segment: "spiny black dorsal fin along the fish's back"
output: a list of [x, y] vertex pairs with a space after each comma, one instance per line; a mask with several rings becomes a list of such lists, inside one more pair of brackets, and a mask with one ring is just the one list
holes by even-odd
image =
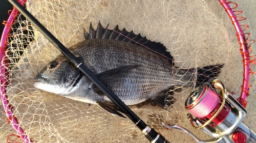
[[166, 51], [167, 49], [163, 44], [147, 40], [146, 37], [142, 37], [140, 34], [136, 35], [133, 33], [133, 31], [127, 32], [125, 28], [123, 28], [122, 30], [119, 30], [118, 25], [116, 25], [113, 30], [109, 30], [108, 26], [109, 24], [106, 26], [106, 28], [103, 28], [101, 23], [99, 22], [97, 29], [94, 30], [91, 23], [89, 33], [83, 29], [84, 38], [86, 40], [114, 39], [114, 40], [119, 40], [127, 43], [132, 43], [141, 47], [147, 47], [156, 51], [158, 54], [165, 56], [165, 58], [167, 58], [169, 62], [172, 63], [172, 65], [174, 66], [173, 56], [170, 55], [168, 51]]

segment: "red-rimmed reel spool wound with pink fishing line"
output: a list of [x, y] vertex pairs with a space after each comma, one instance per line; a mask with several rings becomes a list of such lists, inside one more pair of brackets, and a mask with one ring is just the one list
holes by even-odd
[[[190, 93], [185, 102], [185, 108], [199, 118], [202, 123], [209, 121], [220, 110], [218, 116], [209, 122], [209, 126], [215, 127], [225, 121], [224, 119], [227, 118], [231, 111], [230, 105], [224, 104], [221, 108], [222, 104], [223, 100], [221, 97], [207, 88], [206, 85], [203, 85]], [[229, 123], [233, 124], [234, 120], [229, 120]]]

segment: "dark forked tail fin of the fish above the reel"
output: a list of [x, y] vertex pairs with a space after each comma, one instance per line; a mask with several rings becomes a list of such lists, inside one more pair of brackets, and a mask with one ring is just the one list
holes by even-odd
[[214, 80], [219, 74], [221, 69], [223, 68], [223, 64], [220, 65], [211, 65], [205, 66], [202, 68], [197, 68], [197, 81], [196, 88], [202, 84], [208, 84], [211, 88], [213, 88], [212, 80]]

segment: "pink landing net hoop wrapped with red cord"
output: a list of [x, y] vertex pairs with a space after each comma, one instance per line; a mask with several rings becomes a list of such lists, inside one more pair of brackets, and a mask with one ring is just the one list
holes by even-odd
[[[223, 0], [219, 0], [220, 4], [223, 6], [223, 8], [225, 9], [225, 11], [227, 12], [228, 16], [230, 17], [232, 24], [234, 26], [234, 28], [237, 31], [237, 38], [238, 38], [238, 42], [240, 44], [240, 52], [242, 54], [242, 58], [243, 58], [243, 63], [244, 63], [244, 79], [243, 79], [243, 85], [242, 85], [242, 91], [241, 91], [241, 96], [239, 98], [239, 102], [246, 107], [246, 97], [249, 96], [249, 88], [250, 88], [250, 84], [249, 84], [249, 74], [253, 73], [250, 70], [250, 64], [254, 64], [254, 60], [250, 60], [253, 56], [250, 56], [251, 53], [251, 44], [254, 43], [254, 40], [250, 40], [249, 36], [250, 33], [244, 33], [245, 30], [248, 29], [248, 25], [240, 25], [239, 21], [241, 20], [245, 20], [246, 18], [243, 16], [239, 16], [240, 14], [242, 14], [242, 11], [239, 10], [234, 10], [237, 9], [238, 5], [236, 3], [233, 2], [227, 2], [227, 1], [223, 1]], [[20, 4], [25, 5], [26, 0], [20, 0], [19, 1]], [[230, 5], [235, 5], [235, 7], [230, 7]], [[28, 136], [26, 135], [24, 129], [22, 127], [19, 126], [19, 122], [18, 119], [15, 115], [13, 115], [12, 112], [12, 106], [9, 104], [9, 100], [8, 97], [6, 95], [6, 87], [8, 85], [8, 70], [6, 69], [7, 65], [8, 65], [8, 59], [6, 59], [6, 54], [8, 54], [6, 52], [6, 47], [7, 47], [7, 39], [8, 39], [8, 34], [10, 32], [10, 27], [13, 25], [13, 22], [16, 18], [18, 14], [18, 11], [14, 8], [10, 14], [10, 17], [8, 18], [8, 21], [6, 21], [5, 24], [5, 28], [4, 28], [4, 32], [2, 35], [2, 39], [1, 39], [1, 50], [0, 50], [0, 58], [1, 58], [1, 65], [0, 65], [0, 69], [1, 69], [1, 74], [0, 74], [0, 82], [1, 82], [1, 101], [2, 101], [2, 105], [3, 108], [5, 110], [6, 116], [7, 116], [7, 122], [10, 123], [12, 125], [12, 127], [15, 129], [15, 131], [17, 132], [17, 136], [19, 136], [20, 138], [23, 139], [24, 142], [33, 142], [33, 139], [29, 139]], [[242, 29], [242, 27], [244, 27], [244, 29]]]

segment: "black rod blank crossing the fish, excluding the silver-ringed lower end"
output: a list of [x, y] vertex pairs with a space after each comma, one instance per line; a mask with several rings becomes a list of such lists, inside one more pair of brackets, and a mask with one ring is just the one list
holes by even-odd
[[[135, 115], [135, 113], [127, 107], [112, 91], [110, 91], [105, 85], [86, 67], [76, 56], [68, 50], [61, 42], [58, 41], [48, 30], [42, 25], [30, 12], [28, 12], [22, 5], [20, 5], [16, 0], [8, 0], [20, 13], [22, 13], [37, 29], [44, 35], [62, 54], [67, 56], [67, 58], [79, 69], [83, 74], [88, 76], [92, 82], [94, 82], [97, 87], [99, 87], [108, 96], [111, 101], [113, 101], [122, 111], [131, 116], [131, 120], [137, 123], [140, 118]], [[144, 129], [146, 125], [142, 125]]]

